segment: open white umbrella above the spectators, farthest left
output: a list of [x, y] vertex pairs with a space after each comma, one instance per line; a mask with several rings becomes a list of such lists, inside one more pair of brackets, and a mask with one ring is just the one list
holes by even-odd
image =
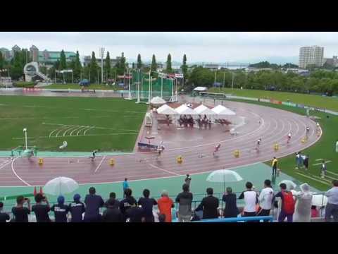
[[51, 179], [46, 185], [44, 186], [44, 193], [50, 195], [61, 195], [72, 193], [73, 191], [79, 188], [79, 184], [68, 177], [56, 177], [55, 179]]

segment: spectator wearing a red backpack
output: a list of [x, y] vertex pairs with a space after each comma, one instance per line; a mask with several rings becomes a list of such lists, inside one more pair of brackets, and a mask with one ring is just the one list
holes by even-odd
[[292, 222], [295, 200], [292, 192], [287, 191], [287, 185], [285, 183], [280, 183], [280, 192], [273, 197], [273, 202], [275, 201], [275, 198], [281, 198], [282, 200], [282, 207], [280, 215], [278, 216], [278, 222], [284, 222], [285, 218], [287, 218], [287, 222]]

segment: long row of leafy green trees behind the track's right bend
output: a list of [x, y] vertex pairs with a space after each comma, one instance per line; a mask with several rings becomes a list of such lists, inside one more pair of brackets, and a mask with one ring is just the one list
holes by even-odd
[[[268, 90], [275, 89], [289, 92], [334, 92], [338, 93], [338, 73], [334, 71], [313, 71], [308, 76], [282, 71], [258, 71], [246, 73], [237, 71], [217, 71], [216, 82], [225, 87], [232, 85], [234, 74], [234, 87], [246, 89]], [[187, 90], [196, 86], [213, 87], [215, 71], [201, 66], [193, 68], [189, 73]]]

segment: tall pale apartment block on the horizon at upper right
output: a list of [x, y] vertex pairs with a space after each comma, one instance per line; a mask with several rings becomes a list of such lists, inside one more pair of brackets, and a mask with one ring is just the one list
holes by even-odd
[[299, 49], [299, 68], [311, 66], [323, 66], [324, 47], [312, 46]]

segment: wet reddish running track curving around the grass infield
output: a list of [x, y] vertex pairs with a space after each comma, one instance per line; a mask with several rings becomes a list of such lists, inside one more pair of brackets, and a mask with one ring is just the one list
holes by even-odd
[[[239, 135], [229, 132], [221, 133], [208, 130], [180, 130], [185, 140], [175, 140], [170, 132], [159, 131], [163, 135], [166, 149], [160, 159], [153, 152], [136, 152], [128, 155], [96, 157], [94, 162], [87, 157], [44, 158], [39, 166], [37, 158], [15, 158], [2, 161], [0, 164], [0, 186], [42, 186], [58, 176], [67, 176], [78, 183], [111, 183], [129, 180], [153, 179], [184, 174], [197, 174], [217, 169], [265, 162], [275, 157], [283, 157], [313, 145], [320, 137], [315, 133], [315, 122], [306, 116], [242, 102], [225, 102], [226, 107], [235, 109], [237, 114], [245, 116], [246, 124], [239, 127]], [[258, 123], [261, 121], [261, 123]], [[301, 143], [306, 135], [306, 126], [311, 132], [308, 141]], [[287, 144], [287, 134], [292, 132], [292, 140]], [[167, 138], [165, 140], [165, 138]], [[256, 141], [262, 138], [260, 151], [256, 152]], [[175, 142], [171, 142], [174, 140]], [[213, 157], [213, 149], [221, 143], [218, 155]], [[275, 152], [273, 146], [279, 143], [280, 150]], [[235, 158], [234, 150], [241, 155]], [[177, 164], [176, 157], [181, 155], [183, 163]], [[115, 165], [109, 160], [115, 159]], [[70, 163], [70, 160], [72, 161]]]

